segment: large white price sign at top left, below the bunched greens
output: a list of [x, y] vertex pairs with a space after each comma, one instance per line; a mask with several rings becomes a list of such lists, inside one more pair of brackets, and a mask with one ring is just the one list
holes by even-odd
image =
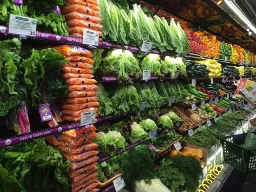
[[9, 33], [24, 36], [36, 36], [36, 30], [36, 19], [10, 14]]

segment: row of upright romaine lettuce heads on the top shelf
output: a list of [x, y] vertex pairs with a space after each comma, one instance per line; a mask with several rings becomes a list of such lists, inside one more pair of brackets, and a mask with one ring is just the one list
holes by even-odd
[[[173, 19], [168, 23], [164, 17], [148, 17], [140, 5], [132, 10], [116, 4], [112, 0], [99, 0], [100, 24], [103, 38], [121, 45], [142, 46], [143, 41], [153, 43], [160, 51], [189, 53], [187, 37], [179, 23]], [[127, 4], [127, 3], [123, 3]]]

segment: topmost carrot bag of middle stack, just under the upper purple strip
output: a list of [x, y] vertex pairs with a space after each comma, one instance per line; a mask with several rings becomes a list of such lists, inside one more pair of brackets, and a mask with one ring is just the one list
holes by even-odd
[[57, 47], [54, 47], [57, 51], [61, 53], [61, 55], [64, 56], [71, 56], [71, 55], [82, 55], [85, 57], [92, 57], [93, 54], [88, 51], [85, 48], [81, 48], [78, 46], [72, 46], [72, 45], [60, 45]]

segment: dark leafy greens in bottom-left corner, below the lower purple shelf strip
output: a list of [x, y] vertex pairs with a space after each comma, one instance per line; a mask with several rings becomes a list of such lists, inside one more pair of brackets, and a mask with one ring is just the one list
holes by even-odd
[[44, 138], [1, 148], [0, 164], [9, 172], [1, 168], [0, 180], [4, 182], [0, 185], [12, 184], [8, 192], [11, 189], [13, 192], [16, 189], [19, 189], [16, 192], [69, 191], [66, 172], [70, 161], [65, 160], [59, 150], [46, 145]]

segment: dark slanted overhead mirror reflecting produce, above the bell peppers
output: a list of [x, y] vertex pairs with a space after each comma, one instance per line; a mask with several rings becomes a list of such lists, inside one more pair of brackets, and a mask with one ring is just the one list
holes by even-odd
[[214, 0], [144, 1], [154, 5], [156, 10], [163, 9], [216, 36], [220, 36], [220, 40], [228, 40], [256, 54], [256, 38], [247, 35], [246, 29], [216, 3], [219, 0], [215, 0], [216, 2]]

